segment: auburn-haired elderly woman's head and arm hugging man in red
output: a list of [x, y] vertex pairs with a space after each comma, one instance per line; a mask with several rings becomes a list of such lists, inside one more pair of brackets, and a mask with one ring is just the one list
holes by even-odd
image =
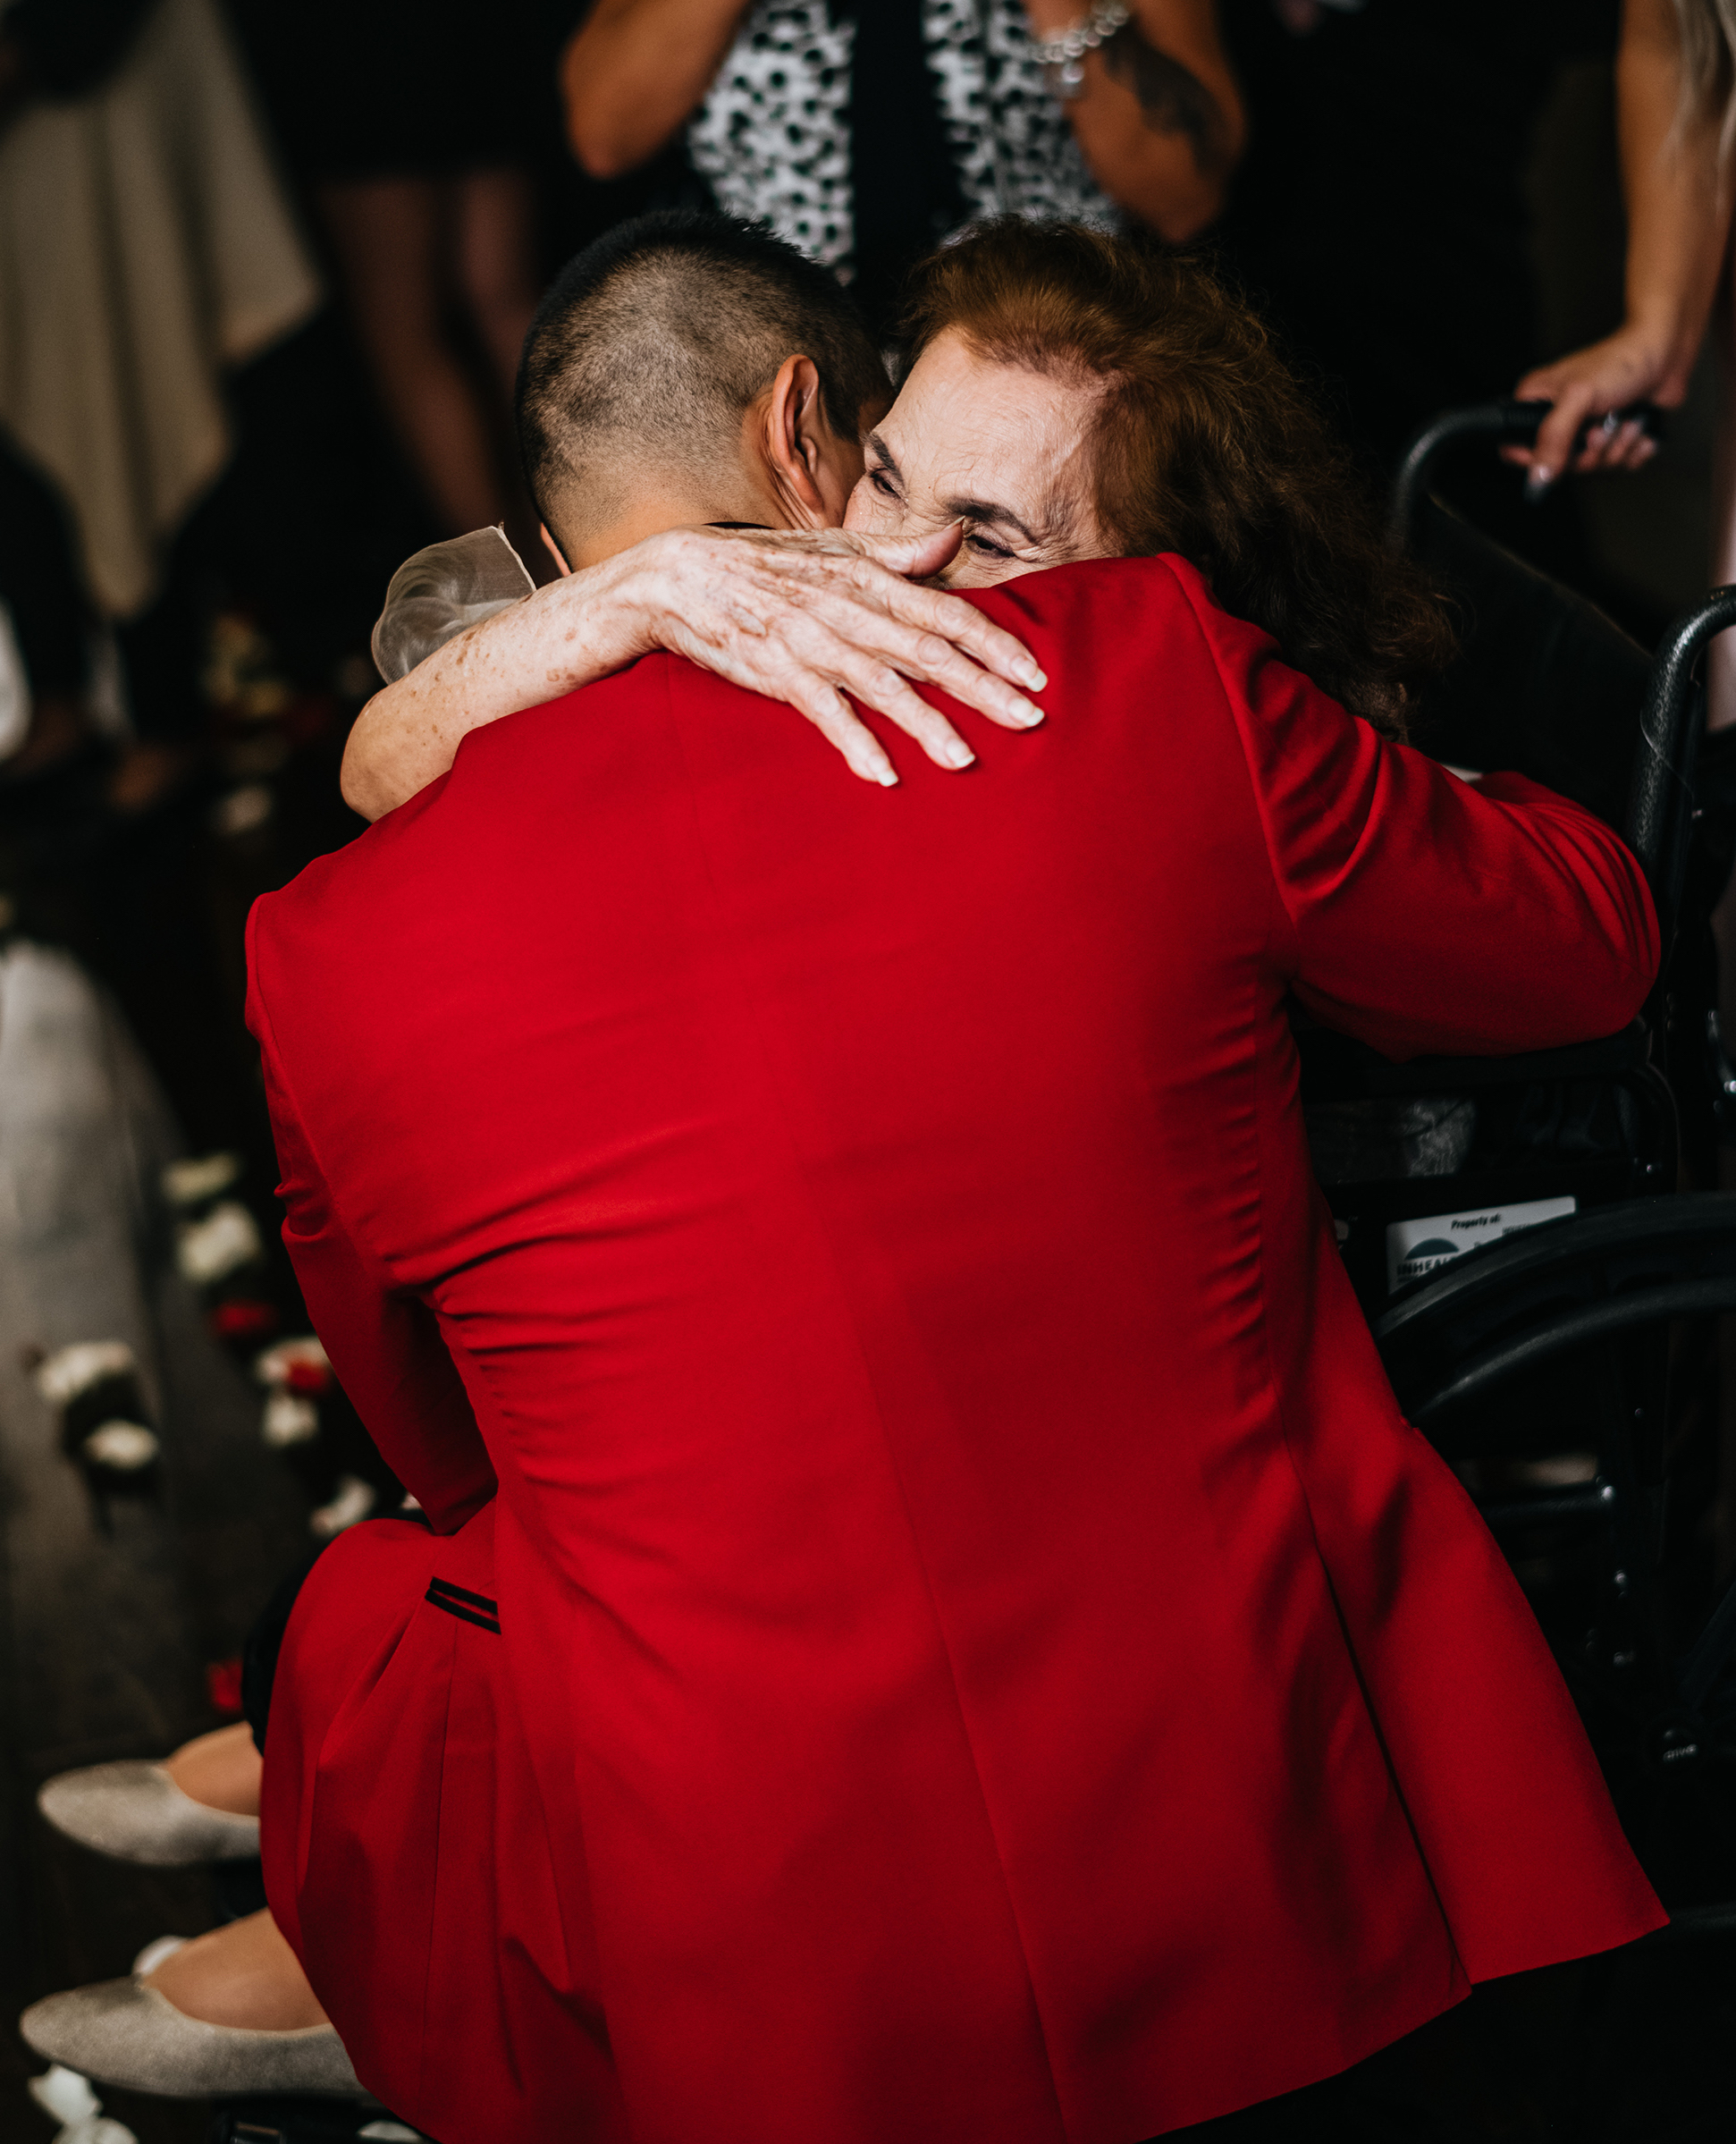
[[[930, 257], [909, 328], [904, 386], [864, 442], [840, 534], [671, 530], [491, 605], [457, 639], [411, 602], [409, 639], [424, 635], [426, 654], [407, 675], [388, 613], [375, 650], [394, 652], [394, 682], [351, 731], [347, 802], [377, 819], [444, 774], [469, 731], [652, 647], [789, 701], [864, 780], [896, 774], [851, 701], [958, 768], [956, 731], [907, 680], [1001, 718], [1005, 686], [1029, 678], [1003, 637], [937, 590], [1162, 551], [1198, 564], [1228, 609], [1355, 714], [1402, 733], [1451, 654], [1447, 620], [1389, 553], [1348, 457], [1258, 319], [1204, 266], [1003, 219]], [[476, 615], [467, 570], [433, 577], [450, 583], [448, 632]], [[487, 592], [502, 585], [495, 566]]]

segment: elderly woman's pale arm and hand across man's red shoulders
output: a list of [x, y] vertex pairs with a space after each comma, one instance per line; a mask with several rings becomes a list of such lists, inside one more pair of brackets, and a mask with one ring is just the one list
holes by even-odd
[[941, 686], [1007, 729], [1042, 720], [1024, 693], [1048, 680], [973, 605], [909, 579], [939, 572], [958, 534], [892, 540], [697, 527], [649, 536], [497, 611], [375, 693], [349, 731], [343, 798], [379, 819], [444, 774], [472, 729], [562, 699], [654, 647], [789, 701], [864, 780], [898, 776], [847, 693], [889, 716], [939, 765], [969, 765], [958, 731], [907, 680]]

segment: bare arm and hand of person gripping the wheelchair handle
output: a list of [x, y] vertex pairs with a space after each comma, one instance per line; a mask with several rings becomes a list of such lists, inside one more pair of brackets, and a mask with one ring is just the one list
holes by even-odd
[[1517, 384], [1522, 401], [1556, 407], [1537, 446], [1507, 448], [1541, 487], [1575, 470], [1637, 470], [1655, 444], [1637, 425], [1580, 427], [1635, 401], [1674, 407], [1706, 334], [1730, 232], [1730, 157], [1719, 148], [1721, 99], [1682, 107], [1682, 39], [1674, 0], [1625, 0], [1616, 58], [1627, 315], [1614, 334], [1543, 364]]

